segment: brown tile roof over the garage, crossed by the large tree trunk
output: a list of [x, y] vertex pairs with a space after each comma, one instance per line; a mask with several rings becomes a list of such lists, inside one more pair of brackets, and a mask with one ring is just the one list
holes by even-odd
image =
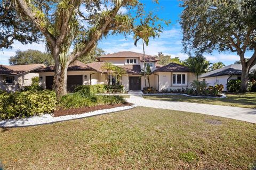
[[[78, 71], [78, 70], [93, 70], [91, 67], [88, 65], [80, 62], [80, 61], [75, 61], [68, 66], [68, 71]], [[54, 71], [54, 66], [46, 66], [43, 67], [42, 69], [38, 69], [35, 72], [53, 72]]]

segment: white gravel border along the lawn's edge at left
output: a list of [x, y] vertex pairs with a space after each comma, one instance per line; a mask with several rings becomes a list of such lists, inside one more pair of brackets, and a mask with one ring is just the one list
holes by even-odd
[[131, 109], [131, 108], [134, 108], [134, 107], [137, 107], [137, 105], [102, 109], [102, 110], [98, 110], [98, 111], [93, 111], [93, 112], [88, 112], [88, 113], [83, 113], [83, 114], [77, 114], [77, 115], [67, 115], [67, 116], [53, 117], [51, 114], [44, 114], [42, 116], [33, 116], [33, 117], [28, 117], [28, 118], [3, 120], [3, 121], [0, 121], [0, 127], [14, 128], [14, 127], [49, 124], [49, 123], [54, 123], [54, 122], [62, 122], [62, 121], [68, 121], [68, 120], [83, 118], [83, 117], [90, 117], [90, 116], [101, 115], [101, 114], [106, 114], [106, 113], [124, 111], [124, 110]]

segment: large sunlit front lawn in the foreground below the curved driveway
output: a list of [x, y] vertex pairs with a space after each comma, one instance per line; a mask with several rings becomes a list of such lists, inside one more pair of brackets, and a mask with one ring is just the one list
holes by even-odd
[[249, 169], [255, 129], [227, 118], [137, 107], [2, 129], [0, 160], [5, 169]]

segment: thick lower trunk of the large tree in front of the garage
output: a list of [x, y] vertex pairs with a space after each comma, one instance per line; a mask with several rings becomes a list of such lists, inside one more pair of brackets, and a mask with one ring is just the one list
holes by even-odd
[[59, 61], [55, 61], [53, 89], [56, 92], [57, 100], [67, 95], [67, 71], [68, 64], [62, 66]]

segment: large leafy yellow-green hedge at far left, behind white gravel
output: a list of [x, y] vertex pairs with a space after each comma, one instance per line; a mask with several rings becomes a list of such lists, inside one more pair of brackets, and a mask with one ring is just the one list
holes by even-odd
[[57, 100], [54, 91], [22, 91], [0, 95], [0, 117], [16, 118], [52, 113]]

